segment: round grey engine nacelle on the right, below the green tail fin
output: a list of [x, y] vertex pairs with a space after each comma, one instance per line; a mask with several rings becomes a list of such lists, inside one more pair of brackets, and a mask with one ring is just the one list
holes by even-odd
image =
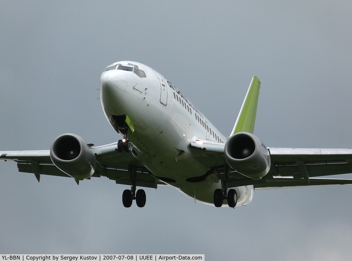
[[225, 144], [225, 159], [234, 170], [252, 179], [261, 179], [270, 170], [268, 148], [248, 132], [234, 134]]

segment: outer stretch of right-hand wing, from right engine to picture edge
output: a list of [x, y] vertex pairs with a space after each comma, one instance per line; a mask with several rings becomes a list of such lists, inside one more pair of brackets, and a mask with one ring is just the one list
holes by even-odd
[[352, 149], [269, 148], [271, 167], [257, 189], [352, 184], [349, 179], [323, 179], [352, 173]]

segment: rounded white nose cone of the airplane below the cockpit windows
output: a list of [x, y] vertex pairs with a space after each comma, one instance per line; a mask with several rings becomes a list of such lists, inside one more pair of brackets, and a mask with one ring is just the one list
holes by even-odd
[[109, 96], [111, 101], [117, 101], [125, 93], [127, 75], [121, 70], [107, 71], [101, 75], [100, 82], [102, 95]]

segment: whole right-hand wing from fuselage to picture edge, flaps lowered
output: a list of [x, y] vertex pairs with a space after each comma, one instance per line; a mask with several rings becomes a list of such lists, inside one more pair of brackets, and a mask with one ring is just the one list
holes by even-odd
[[[224, 173], [224, 144], [194, 139], [189, 148], [196, 160], [214, 170], [208, 175]], [[253, 185], [256, 189], [274, 189], [352, 184], [352, 179], [317, 178], [352, 173], [352, 149], [270, 148], [269, 151], [271, 167], [266, 176], [253, 180], [230, 168], [228, 186]]]

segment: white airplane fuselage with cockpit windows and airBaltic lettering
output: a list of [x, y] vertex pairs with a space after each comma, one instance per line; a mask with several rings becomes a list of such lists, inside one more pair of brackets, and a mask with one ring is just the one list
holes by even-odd
[[[225, 144], [225, 136], [161, 74], [132, 61], [111, 66], [118, 64], [122, 69], [106, 70], [100, 77], [100, 100], [107, 120], [119, 131], [113, 116], [128, 115], [134, 125], [128, 139], [139, 151], [134, 156], [165, 183], [195, 200], [213, 204], [214, 190], [221, 189], [216, 172], [199, 182], [186, 181], [210, 170], [193, 157], [189, 145], [195, 138]], [[133, 68], [146, 77], [138, 76]], [[252, 185], [235, 189], [237, 205], [251, 202]]]

